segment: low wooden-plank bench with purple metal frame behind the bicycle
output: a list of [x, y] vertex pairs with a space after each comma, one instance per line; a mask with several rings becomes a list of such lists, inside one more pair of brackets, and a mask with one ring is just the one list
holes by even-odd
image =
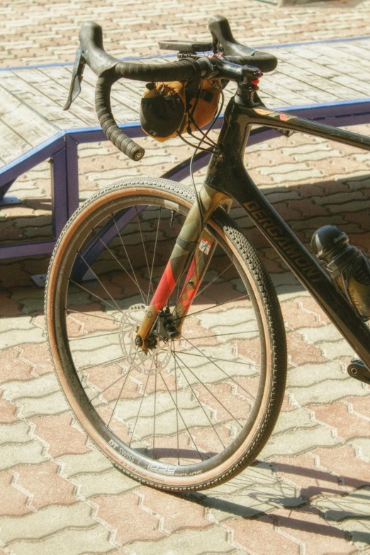
[[[334, 126], [370, 122], [370, 38], [315, 41], [264, 47], [275, 49], [279, 65], [262, 79], [261, 97], [269, 107]], [[171, 56], [151, 57], [166, 63]], [[344, 64], [345, 60], [345, 64]], [[138, 60], [140, 61], [140, 60]], [[347, 70], [351, 74], [347, 74]], [[68, 218], [79, 205], [77, 147], [106, 140], [94, 109], [96, 76], [86, 67], [82, 93], [69, 111], [62, 111], [67, 98], [72, 64], [35, 65], [0, 69], [0, 217], [18, 199], [11, 196], [16, 179], [50, 160], [52, 239], [0, 246], [0, 259], [49, 254]], [[228, 87], [229, 89], [229, 87]], [[226, 89], [226, 101], [232, 88]], [[138, 112], [143, 85], [121, 81], [112, 91], [113, 113], [125, 133], [144, 136]], [[281, 109], [281, 108], [279, 108]], [[221, 125], [222, 117], [218, 121]], [[255, 133], [251, 143], [276, 136], [274, 130]], [[158, 146], [160, 148], [160, 146]], [[208, 156], [198, 157], [195, 169]], [[189, 161], [166, 176], [184, 179]]]

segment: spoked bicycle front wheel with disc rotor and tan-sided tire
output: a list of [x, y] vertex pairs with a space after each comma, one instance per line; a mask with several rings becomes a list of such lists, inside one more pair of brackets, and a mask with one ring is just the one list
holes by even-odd
[[50, 353], [77, 419], [118, 469], [174, 491], [216, 486], [255, 459], [286, 378], [274, 287], [221, 209], [207, 225], [217, 247], [181, 337], [135, 345], [193, 202], [189, 188], [165, 179], [104, 189], [67, 223], [46, 289]]

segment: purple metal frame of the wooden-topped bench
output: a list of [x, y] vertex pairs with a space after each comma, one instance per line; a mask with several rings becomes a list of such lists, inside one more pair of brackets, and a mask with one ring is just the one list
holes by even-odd
[[[357, 37], [349, 39], [319, 40], [303, 43], [304, 45], [318, 43], [336, 43], [355, 40], [364, 40], [370, 37]], [[300, 46], [302, 43], [290, 43], [284, 45], [273, 45], [264, 48], [281, 48], [288, 46]], [[152, 56], [150, 56], [152, 57]], [[168, 57], [168, 55], [166, 55]], [[132, 58], [133, 60], [135, 58]], [[73, 65], [66, 62], [55, 65]], [[25, 66], [11, 68], [4, 67], [1, 71], [11, 69], [30, 69]], [[288, 113], [296, 113], [297, 116], [320, 121], [334, 127], [344, 125], [357, 125], [370, 123], [370, 98], [354, 101], [338, 101], [335, 103], [310, 104], [308, 106], [284, 106], [275, 108]], [[223, 116], [218, 120], [217, 128], [223, 123]], [[120, 125], [125, 133], [131, 138], [145, 137], [139, 122], [125, 123]], [[274, 130], [263, 130], [251, 136], [248, 145], [257, 144], [264, 140], [280, 136]], [[0, 205], [14, 202], [14, 199], [7, 197], [6, 193], [13, 182], [29, 169], [37, 166], [41, 162], [50, 159], [51, 164], [51, 196], [52, 196], [52, 236], [51, 240], [42, 242], [15, 243], [12, 245], [0, 245], [0, 259], [13, 257], [26, 257], [35, 254], [50, 254], [55, 246], [62, 228], [67, 220], [79, 206], [79, 169], [78, 169], [78, 145], [86, 142], [99, 142], [107, 140], [100, 127], [80, 128], [63, 130], [56, 133], [52, 138], [46, 140], [41, 145], [34, 147], [25, 155], [18, 157], [13, 162], [0, 168]], [[194, 163], [194, 169], [201, 169], [208, 164], [209, 155], [199, 157]], [[178, 164], [174, 169], [165, 174], [166, 177], [181, 181], [189, 175], [189, 159]], [[1, 239], [1, 238], [0, 238]]]

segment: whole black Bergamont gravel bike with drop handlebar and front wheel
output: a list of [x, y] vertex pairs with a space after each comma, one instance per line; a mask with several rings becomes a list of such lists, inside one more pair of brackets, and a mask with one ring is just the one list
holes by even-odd
[[[286, 381], [286, 336], [270, 276], [230, 218], [242, 206], [312, 293], [359, 359], [349, 375], [370, 383], [370, 330], [305, 249], [243, 164], [252, 125], [330, 138], [370, 150], [370, 139], [266, 108], [257, 84], [277, 64], [237, 43], [225, 18], [213, 42], [168, 41], [176, 62], [120, 62], [102, 30], [85, 23], [67, 106], [87, 64], [99, 76], [96, 113], [131, 159], [142, 147], [113, 118], [111, 86], [219, 79], [237, 90], [197, 193], [167, 179], [123, 179], [72, 215], [52, 254], [45, 313], [50, 353], [74, 414], [113, 464], [163, 490], [216, 486], [245, 469], [271, 435]], [[207, 52], [213, 51], [209, 54]], [[343, 234], [342, 234], [343, 235]]]

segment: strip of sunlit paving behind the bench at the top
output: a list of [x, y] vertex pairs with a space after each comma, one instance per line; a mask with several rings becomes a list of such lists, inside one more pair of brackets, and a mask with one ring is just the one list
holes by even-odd
[[[324, 0], [279, 8], [269, 1], [4, 0], [0, 65], [4, 67], [74, 60], [77, 30], [84, 21], [103, 26], [113, 55], [157, 54], [157, 40], [209, 40], [208, 19], [230, 18], [238, 38], [250, 45], [271, 45], [369, 35], [369, 0]], [[185, 36], [186, 35], [186, 36]]]

